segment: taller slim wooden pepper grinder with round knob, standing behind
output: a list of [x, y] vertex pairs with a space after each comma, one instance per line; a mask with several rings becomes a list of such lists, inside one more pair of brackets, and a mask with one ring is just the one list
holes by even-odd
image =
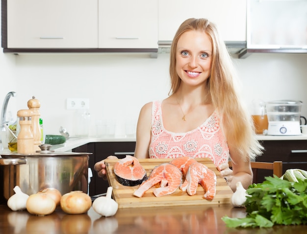
[[41, 103], [39, 100], [35, 99], [35, 96], [32, 96], [32, 99], [28, 100], [27, 106], [31, 111], [31, 129], [33, 133], [33, 140], [34, 140], [34, 151], [41, 150], [39, 145], [42, 143], [41, 141], [41, 129], [39, 126], [39, 117], [40, 112], [39, 108], [41, 107]]

